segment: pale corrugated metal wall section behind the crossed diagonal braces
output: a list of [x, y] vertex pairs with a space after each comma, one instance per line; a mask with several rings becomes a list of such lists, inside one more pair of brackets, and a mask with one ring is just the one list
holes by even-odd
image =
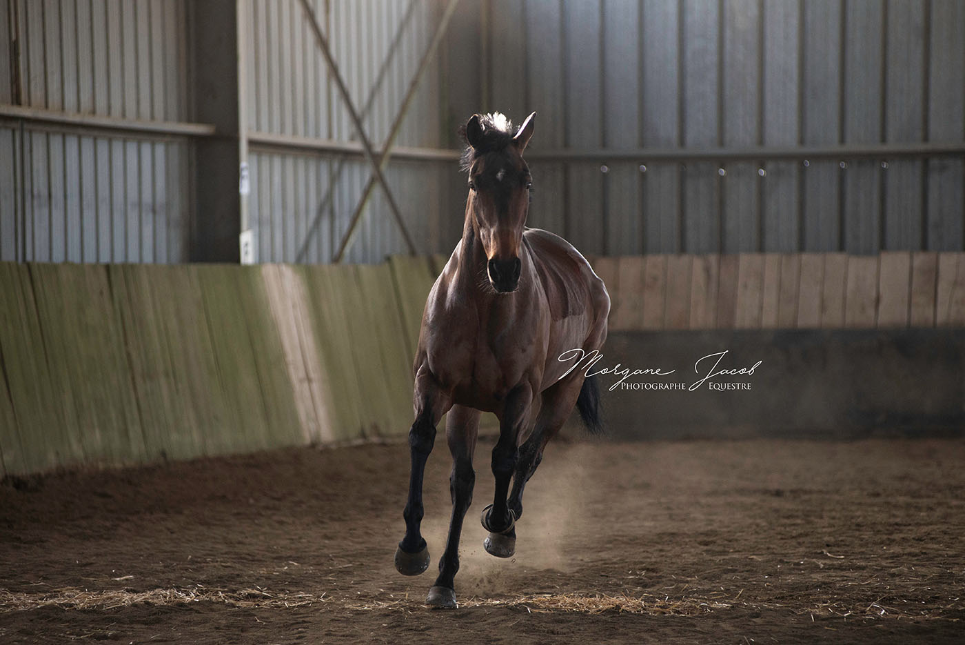
[[[389, 133], [410, 79], [418, 69], [443, 4], [427, 0], [314, 0], [349, 94], [376, 152]], [[357, 140], [348, 110], [318, 52], [296, 2], [243, 0], [250, 29], [245, 51], [248, 127], [253, 133], [316, 140]], [[433, 62], [397, 145], [441, 147], [440, 82]], [[286, 149], [281, 141], [253, 142], [249, 154], [250, 228], [259, 262], [329, 262], [369, 180], [359, 154]], [[437, 235], [445, 173], [437, 160], [392, 160], [385, 171], [417, 250], [451, 240]], [[363, 216], [348, 262], [378, 262], [405, 252], [384, 193], [378, 188]]]

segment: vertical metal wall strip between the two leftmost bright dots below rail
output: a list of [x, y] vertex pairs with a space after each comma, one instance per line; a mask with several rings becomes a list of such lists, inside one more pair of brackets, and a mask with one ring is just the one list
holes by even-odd
[[[640, 145], [640, 8], [636, 3], [604, 0], [603, 146]], [[635, 162], [608, 163], [603, 177], [607, 205], [606, 251], [611, 255], [643, 252], [640, 176]]]

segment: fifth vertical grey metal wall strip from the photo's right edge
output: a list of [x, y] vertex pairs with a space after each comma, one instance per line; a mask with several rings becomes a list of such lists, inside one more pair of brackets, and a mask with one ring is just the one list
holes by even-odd
[[[798, 95], [798, 84], [788, 79], [797, 79], [801, 69], [801, 11], [796, 2], [764, 3], [763, 11], [763, 143], [794, 146], [803, 98]], [[800, 250], [800, 167], [793, 161], [768, 161], [763, 166], [761, 243], [768, 251]]]

